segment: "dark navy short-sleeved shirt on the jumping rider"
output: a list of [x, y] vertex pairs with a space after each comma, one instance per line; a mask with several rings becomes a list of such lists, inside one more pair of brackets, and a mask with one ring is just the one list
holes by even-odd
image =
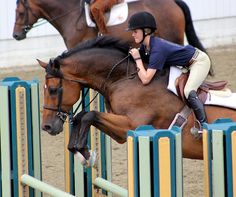
[[179, 45], [159, 37], [150, 37], [150, 51], [145, 53], [142, 44], [140, 54], [148, 68], [162, 70], [164, 66], [188, 66], [196, 49], [191, 45]]

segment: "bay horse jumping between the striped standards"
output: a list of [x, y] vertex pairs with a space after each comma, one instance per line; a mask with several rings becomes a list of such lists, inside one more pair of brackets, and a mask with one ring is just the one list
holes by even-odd
[[[79, 44], [49, 63], [45, 68], [44, 109], [42, 128], [52, 135], [63, 129], [68, 114], [80, 97], [80, 86], [98, 91], [106, 100], [107, 113], [81, 111], [74, 118], [69, 149], [79, 151], [88, 159], [86, 148], [91, 125], [105, 132], [118, 143], [126, 142], [128, 130], [139, 125], [168, 128], [184, 107], [183, 101], [167, 89], [168, 72], [158, 72], [144, 86], [137, 76], [135, 62], [129, 57], [130, 45], [113, 37], [100, 37]], [[205, 106], [209, 123], [227, 117], [236, 121], [236, 111], [220, 106]], [[190, 133], [193, 113], [182, 130], [183, 157], [202, 159], [201, 140]]]

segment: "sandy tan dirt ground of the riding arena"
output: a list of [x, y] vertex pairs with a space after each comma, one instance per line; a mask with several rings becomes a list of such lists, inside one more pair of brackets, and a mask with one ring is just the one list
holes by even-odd
[[[229, 87], [236, 91], [236, 45], [208, 49], [212, 59], [215, 77], [210, 80], [228, 80]], [[44, 81], [44, 71], [39, 66], [27, 68], [1, 69], [0, 79], [18, 76], [23, 80], [38, 79], [40, 90]], [[42, 91], [41, 91], [42, 101]], [[42, 105], [42, 103], [41, 103]], [[42, 109], [42, 108], [41, 108]], [[41, 132], [43, 180], [64, 190], [63, 134], [50, 136]], [[127, 188], [127, 144], [113, 142], [113, 182]], [[184, 159], [184, 196], [203, 196], [203, 162]], [[46, 195], [45, 195], [46, 196]]]

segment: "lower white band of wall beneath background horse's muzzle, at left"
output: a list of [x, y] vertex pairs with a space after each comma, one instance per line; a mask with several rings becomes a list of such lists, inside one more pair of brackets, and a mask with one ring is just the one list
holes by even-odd
[[32, 37], [22, 41], [0, 40], [0, 68], [35, 65], [36, 59], [48, 61], [65, 49], [59, 35]]

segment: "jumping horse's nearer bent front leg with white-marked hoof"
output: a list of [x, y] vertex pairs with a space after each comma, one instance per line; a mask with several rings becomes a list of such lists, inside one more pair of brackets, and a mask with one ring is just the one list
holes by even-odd
[[77, 155], [81, 163], [87, 166], [88, 164], [92, 165], [96, 157], [95, 152], [89, 152], [87, 147], [88, 130], [91, 125], [103, 131], [118, 143], [124, 143], [127, 140], [127, 132], [129, 130], [133, 130], [138, 125], [146, 123], [145, 118], [142, 119], [142, 122], [136, 122], [131, 121], [131, 119], [125, 115], [115, 115], [97, 111], [87, 112], [81, 118], [79, 138], [76, 145], [78, 151]]

